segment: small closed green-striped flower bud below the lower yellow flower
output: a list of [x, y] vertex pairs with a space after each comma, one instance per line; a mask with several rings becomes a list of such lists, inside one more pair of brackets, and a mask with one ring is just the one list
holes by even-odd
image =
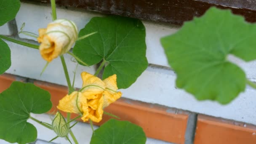
[[52, 127], [53, 127], [53, 131], [59, 137], [65, 137], [69, 133], [69, 128], [67, 126], [66, 120], [59, 112], [56, 113], [53, 119]]

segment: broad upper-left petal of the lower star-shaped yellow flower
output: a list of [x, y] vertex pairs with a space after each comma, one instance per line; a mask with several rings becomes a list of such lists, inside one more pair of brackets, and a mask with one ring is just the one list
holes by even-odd
[[83, 79], [83, 88], [81, 89], [81, 92], [87, 99], [96, 99], [97, 94], [104, 92], [105, 84], [99, 77], [87, 72], [82, 72], [81, 77]]

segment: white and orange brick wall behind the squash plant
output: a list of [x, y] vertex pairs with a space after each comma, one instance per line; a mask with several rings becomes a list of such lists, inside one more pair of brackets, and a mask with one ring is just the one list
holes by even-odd
[[[57, 8], [57, 16], [59, 19], [65, 18], [74, 21], [81, 29], [93, 16], [105, 15], [80, 9]], [[21, 3], [16, 19], [0, 27], [0, 34], [36, 43], [35, 38], [17, 34], [17, 29], [19, 30], [24, 22], [26, 23], [24, 31], [38, 33], [39, 28], [46, 27], [51, 22], [50, 6]], [[123, 120], [130, 120], [141, 125], [147, 136], [153, 138], [148, 139], [147, 144], [164, 144], [164, 141], [192, 144], [194, 136], [195, 144], [255, 144], [256, 127], [253, 125], [256, 125], [256, 91], [247, 87], [246, 91], [230, 104], [221, 105], [212, 101], [197, 101], [192, 95], [175, 88], [176, 75], [167, 63], [165, 53], [160, 45], [160, 37], [176, 32], [179, 27], [150, 21], [143, 21], [143, 23], [147, 33], [149, 67], [130, 88], [121, 90], [123, 98], [110, 105], [107, 110], [119, 115]], [[65, 95], [65, 86], [67, 85], [60, 59], [54, 59], [40, 76], [46, 62], [41, 58], [38, 50], [7, 43], [11, 48], [12, 60], [12, 66], [7, 73], [12, 75], [0, 76], [0, 91], [8, 88], [13, 80], [33, 82], [50, 91], [51, 100], [56, 106], [59, 99]], [[69, 76], [73, 77], [72, 71], [76, 65], [69, 55], [64, 55], [64, 57], [69, 69]], [[229, 59], [242, 67], [249, 79], [255, 81], [255, 61], [245, 63], [232, 56]], [[82, 85], [80, 72], [94, 73], [96, 68], [96, 66], [79, 66], [75, 87], [80, 88]], [[122, 109], [122, 111], [117, 109]], [[50, 120], [48, 115], [38, 115], [37, 117]], [[105, 117], [104, 120], [108, 118]], [[52, 138], [51, 133], [39, 125], [37, 128], [39, 128], [39, 139], [49, 140]], [[75, 133], [78, 135], [83, 133], [79, 135], [79, 141], [88, 140], [91, 136], [90, 127], [83, 123], [75, 127]], [[57, 139], [55, 142], [64, 144], [65, 140]]]

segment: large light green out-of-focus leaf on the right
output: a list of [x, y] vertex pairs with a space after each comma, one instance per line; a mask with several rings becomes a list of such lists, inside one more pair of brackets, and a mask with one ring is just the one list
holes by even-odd
[[256, 59], [256, 24], [229, 10], [210, 8], [204, 16], [186, 22], [174, 35], [163, 37], [176, 85], [198, 100], [227, 104], [245, 90], [246, 77], [229, 54], [244, 61]]

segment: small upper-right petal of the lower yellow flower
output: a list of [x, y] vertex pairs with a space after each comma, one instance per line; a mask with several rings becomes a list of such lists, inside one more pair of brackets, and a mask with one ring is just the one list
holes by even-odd
[[117, 75], [112, 75], [103, 80], [103, 82], [106, 85], [106, 91], [109, 91], [110, 93], [116, 93], [117, 92]]

